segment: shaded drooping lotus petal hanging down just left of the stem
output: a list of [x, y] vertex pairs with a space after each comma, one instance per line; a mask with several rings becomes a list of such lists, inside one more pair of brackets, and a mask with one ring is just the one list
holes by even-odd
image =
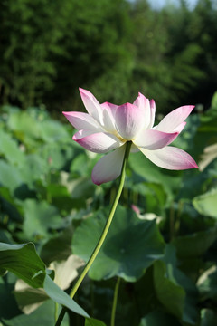
[[126, 145], [115, 149], [103, 158], [100, 158], [92, 170], [92, 181], [96, 185], [112, 181], [119, 177], [125, 155]]

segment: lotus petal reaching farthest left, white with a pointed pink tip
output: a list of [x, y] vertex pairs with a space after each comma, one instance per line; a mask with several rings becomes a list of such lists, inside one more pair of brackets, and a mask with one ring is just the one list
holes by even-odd
[[66, 119], [68, 119], [71, 125], [75, 129], [88, 129], [95, 132], [102, 131], [102, 128], [99, 126], [97, 120], [92, 118], [90, 114], [83, 112], [62, 112]]

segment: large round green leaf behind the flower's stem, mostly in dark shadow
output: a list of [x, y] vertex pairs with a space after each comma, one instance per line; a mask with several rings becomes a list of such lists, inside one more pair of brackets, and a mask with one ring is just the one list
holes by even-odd
[[[93, 214], [76, 229], [73, 253], [87, 261], [99, 240], [109, 210]], [[164, 240], [155, 221], [141, 221], [131, 209], [118, 206], [107, 239], [90, 269], [95, 280], [115, 275], [135, 282], [146, 268], [161, 258]]]

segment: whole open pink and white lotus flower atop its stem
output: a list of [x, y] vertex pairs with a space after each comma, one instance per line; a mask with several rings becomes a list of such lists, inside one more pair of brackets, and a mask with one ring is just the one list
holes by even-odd
[[92, 170], [92, 181], [96, 185], [120, 175], [127, 141], [132, 142], [131, 151], [140, 150], [158, 167], [171, 170], [198, 168], [184, 150], [168, 146], [184, 129], [184, 120], [193, 105], [173, 110], [154, 127], [155, 101], [149, 101], [141, 93], [133, 104], [120, 106], [109, 102], [99, 104], [90, 91], [83, 89], [80, 89], [80, 96], [88, 113], [62, 113], [78, 129], [72, 139], [92, 152], [109, 152]]

